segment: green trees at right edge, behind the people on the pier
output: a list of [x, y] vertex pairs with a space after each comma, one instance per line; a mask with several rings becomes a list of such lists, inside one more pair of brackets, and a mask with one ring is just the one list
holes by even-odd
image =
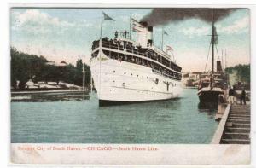
[[241, 82], [247, 82], [250, 83], [250, 76], [251, 76], [251, 72], [250, 72], [250, 64], [248, 65], [236, 65], [235, 67], [227, 67], [225, 68], [225, 72], [231, 74], [233, 72], [236, 72], [236, 76], [237, 78], [241, 81]]

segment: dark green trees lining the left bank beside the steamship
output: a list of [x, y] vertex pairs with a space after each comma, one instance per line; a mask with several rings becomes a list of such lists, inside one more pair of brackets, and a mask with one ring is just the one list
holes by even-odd
[[[44, 56], [28, 55], [11, 47], [11, 85], [15, 87], [16, 81], [20, 81], [20, 88], [24, 88], [26, 82], [32, 78], [33, 82], [53, 81], [67, 82], [69, 84], [83, 85], [83, 62], [78, 60], [76, 67], [72, 64], [66, 67], [47, 65]], [[90, 67], [84, 64], [85, 85], [90, 84]]]

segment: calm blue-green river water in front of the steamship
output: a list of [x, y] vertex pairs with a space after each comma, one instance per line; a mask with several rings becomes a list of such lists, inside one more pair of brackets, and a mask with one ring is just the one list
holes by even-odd
[[193, 89], [175, 100], [113, 107], [98, 107], [95, 93], [13, 98], [13, 143], [202, 144], [218, 126], [216, 109], [199, 109]]

